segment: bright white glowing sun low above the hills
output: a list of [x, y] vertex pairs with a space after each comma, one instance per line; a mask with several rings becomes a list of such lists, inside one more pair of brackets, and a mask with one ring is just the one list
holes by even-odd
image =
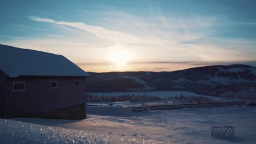
[[122, 67], [131, 60], [129, 52], [113, 51], [109, 55], [110, 61], [114, 62], [118, 67]]

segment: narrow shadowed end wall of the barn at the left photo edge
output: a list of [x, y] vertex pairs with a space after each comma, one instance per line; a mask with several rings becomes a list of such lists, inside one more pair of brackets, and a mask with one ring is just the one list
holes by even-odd
[[7, 89], [7, 76], [0, 71], [0, 118], [5, 118], [5, 91]]

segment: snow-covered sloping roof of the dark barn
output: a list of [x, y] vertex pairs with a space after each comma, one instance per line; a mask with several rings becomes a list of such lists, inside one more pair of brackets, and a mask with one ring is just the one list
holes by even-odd
[[18, 76], [90, 76], [62, 55], [0, 45], [0, 71]]

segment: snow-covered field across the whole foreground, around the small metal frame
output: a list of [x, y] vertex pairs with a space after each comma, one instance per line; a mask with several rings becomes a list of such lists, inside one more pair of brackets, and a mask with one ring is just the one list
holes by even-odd
[[[256, 143], [256, 106], [144, 112], [126, 111], [120, 106], [90, 106], [87, 113], [83, 120], [0, 119], [0, 143], [9, 139], [31, 143]], [[235, 127], [236, 136], [211, 136], [212, 126], [224, 125]]]

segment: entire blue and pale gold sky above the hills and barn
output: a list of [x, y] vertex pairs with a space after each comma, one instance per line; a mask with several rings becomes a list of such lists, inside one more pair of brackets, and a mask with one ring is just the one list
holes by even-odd
[[256, 67], [256, 1], [2, 1], [0, 44], [85, 71]]

